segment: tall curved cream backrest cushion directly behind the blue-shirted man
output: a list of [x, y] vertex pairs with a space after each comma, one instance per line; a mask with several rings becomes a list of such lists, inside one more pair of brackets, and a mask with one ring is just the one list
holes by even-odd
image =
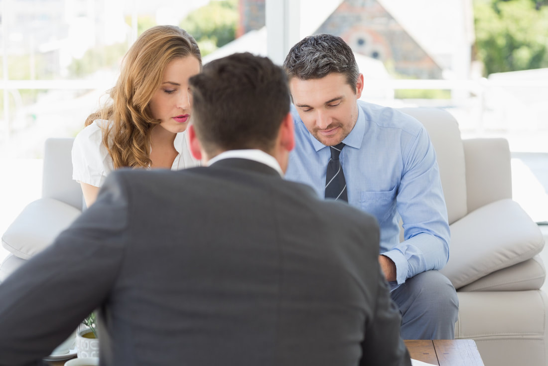
[[467, 210], [466, 165], [463, 140], [455, 117], [437, 108], [401, 108], [423, 123], [428, 132], [441, 176], [449, 224], [464, 217]]

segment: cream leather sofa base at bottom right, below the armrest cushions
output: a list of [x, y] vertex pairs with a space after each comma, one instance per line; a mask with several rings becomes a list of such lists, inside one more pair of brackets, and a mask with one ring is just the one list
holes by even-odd
[[457, 292], [456, 339], [473, 339], [486, 365], [546, 365], [544, 291]]

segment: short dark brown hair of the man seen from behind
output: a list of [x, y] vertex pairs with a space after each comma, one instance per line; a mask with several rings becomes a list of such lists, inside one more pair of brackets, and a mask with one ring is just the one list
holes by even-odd
[[261, 149], [275, 144], [289, 112], [286, 72], [266, 57], [235, 53], [204, 65], [190, 78], [192, 123], [202, 148]]

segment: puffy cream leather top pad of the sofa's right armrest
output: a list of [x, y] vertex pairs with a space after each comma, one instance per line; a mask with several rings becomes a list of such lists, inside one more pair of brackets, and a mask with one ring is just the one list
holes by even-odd
[[538, 226], [511, 199], [470, 212], [454, 222], [450, 229], [449, 261], [441, 272], [455, 289], [526, 261], [544, 247]]

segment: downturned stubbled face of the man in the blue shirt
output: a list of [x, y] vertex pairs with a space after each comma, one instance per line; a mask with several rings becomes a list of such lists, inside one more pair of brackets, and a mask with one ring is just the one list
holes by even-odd
[[289, 89], [302, 122], [322, 144], [336, 145], [354, 128], [363, 75], [359, 75], [355, 88], [346, 83], [345, 75], [332, 72], [319, 79], [293, 77]]

